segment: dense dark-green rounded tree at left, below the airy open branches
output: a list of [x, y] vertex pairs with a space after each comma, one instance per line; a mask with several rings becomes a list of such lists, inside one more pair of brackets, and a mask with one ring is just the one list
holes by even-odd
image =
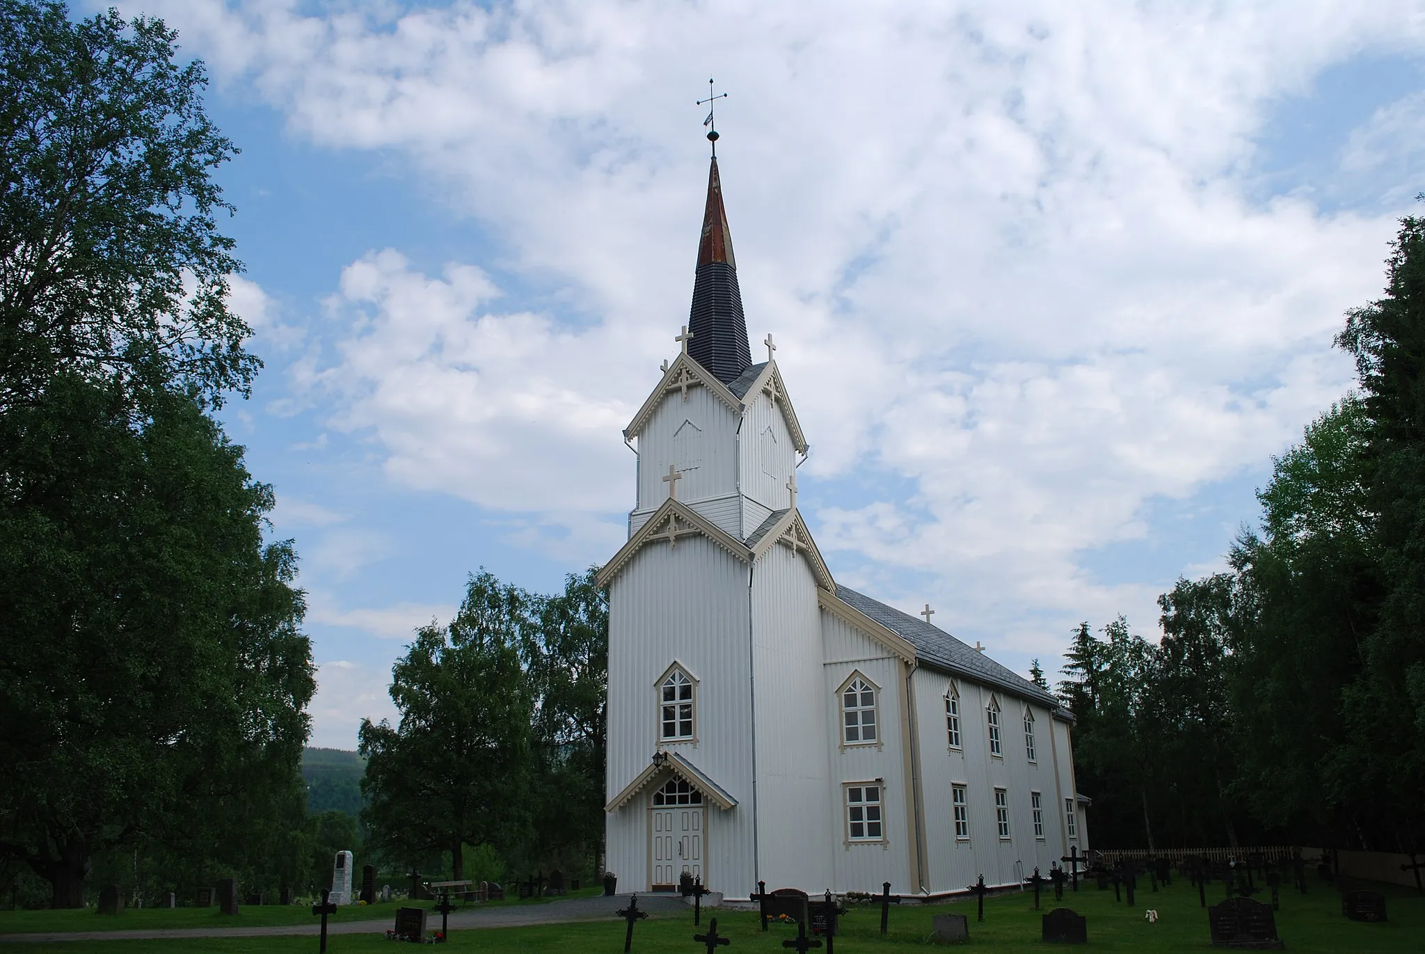
[[0, 415], [0, 851], [56, 907], [95, 851], [271, 817], [315, 687], [271, 488], [192, 399], [130, 398], [58, 376]]

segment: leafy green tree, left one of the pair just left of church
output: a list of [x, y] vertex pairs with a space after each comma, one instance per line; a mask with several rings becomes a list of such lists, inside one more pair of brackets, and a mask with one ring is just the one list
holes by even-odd
[[449, 626], [422, 627], [392, 667], [399, 724], [362, 720], [362, 821], [386, 858], [449, 851], [462, 878], [466, 844], [524, 838], [536, 719], [520, 655], [534, 625], [529, 603], [490, 573], [472, 575]]

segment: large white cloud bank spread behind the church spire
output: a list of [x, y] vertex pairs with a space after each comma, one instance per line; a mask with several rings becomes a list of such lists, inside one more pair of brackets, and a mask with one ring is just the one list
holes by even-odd
[[[1392, 222], [1251, 204], [1253, 135], [1325, 66], [1422, 46], [1385, 1], [295, 9], [167, 16], [294, 134], [408, 157], [502, 242], [437, 275], [352, 262], [326, 358], [295, 365], [395, 481], [513, 512], [546, 552], [617, 535], [618, 431], [687, 314], [717, 64], [750, 327], [777, 334], [808, 473], [913, 488], [821, 511], [824, 548], [882, 562], [895, 599], [896, 569], [929, 575], [948, 623], [1026, 652], [1062, 642], [1045, 619], [1151, 619], [1153, 585], [1080, 555], [1264, 462], [1349, 381], [1331, 332]], [[502, 308], [489, 272], [557, 304]]]

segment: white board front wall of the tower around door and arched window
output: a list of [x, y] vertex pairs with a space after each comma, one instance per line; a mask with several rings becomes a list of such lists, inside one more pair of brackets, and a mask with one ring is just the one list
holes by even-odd
[[[738, 800], [708, 807], [704, 857], [715, 891], [752, 877], [748, 566], [703, 536], [644, 546], [608, 590], [608, 777], [613, 799], [658, 750], [657, 682], [678, 662], [697, 682], [697, 740], [680, 752]], [[620, 890], [648, 888], [651, 791], [607, 816], [607, 867]]]

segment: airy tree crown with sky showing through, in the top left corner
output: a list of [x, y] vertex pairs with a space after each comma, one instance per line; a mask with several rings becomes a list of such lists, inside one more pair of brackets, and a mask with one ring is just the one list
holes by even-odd
[[241, 271], [214, 168], [237, 150], [202, 106], [204, 66], [162, 21], [68, 19], [0, 0], [0, 414], [61, 372], [204, 402], [259, 362], [227, 305]]

